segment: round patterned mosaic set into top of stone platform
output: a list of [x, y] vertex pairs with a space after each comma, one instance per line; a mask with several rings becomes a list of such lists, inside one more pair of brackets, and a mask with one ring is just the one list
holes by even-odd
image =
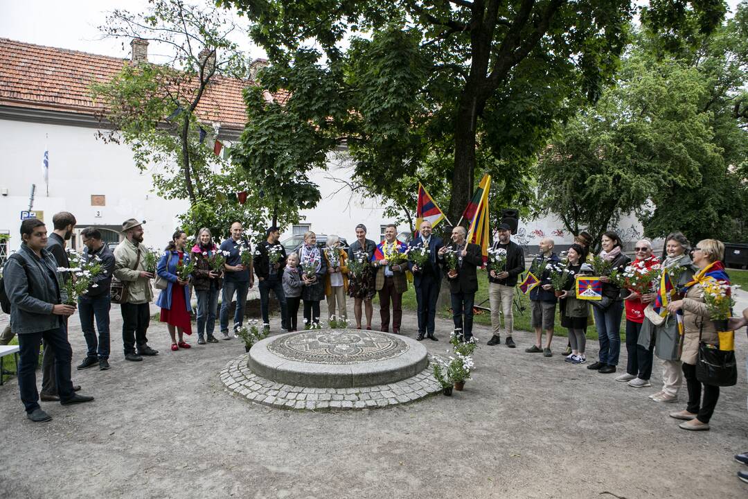
[[286, 334], [268, 344], [270, 352], [289, 361], [314, 364], [361, 364], [407, 352], [407, 343], [376, 331], [329, 329]]

